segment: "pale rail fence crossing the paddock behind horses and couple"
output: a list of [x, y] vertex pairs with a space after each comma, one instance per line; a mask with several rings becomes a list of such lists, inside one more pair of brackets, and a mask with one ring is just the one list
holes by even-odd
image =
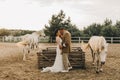
[[[88, 42], [90, 37], [72, 37], [73, 43], [80, 43], [81, 41]], [[105, 37], [108, 43], [120, 43], [120, 37]], [[5, 40], [5, 36], [0, 36], [0, 42], [19, 42], [21, 38], [19, 36], [14, 36], [11, 40]], [[39, 38], [40, 43], [53, 43], [55, 42], [55, 37], [50, 38], [48, 36]]]

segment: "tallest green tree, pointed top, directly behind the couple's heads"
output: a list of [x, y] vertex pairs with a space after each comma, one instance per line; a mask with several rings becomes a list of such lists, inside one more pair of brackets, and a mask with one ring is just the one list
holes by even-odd
[[66, 18], [62, 10], [57, 15], [52, 15], [51, 20], [49, 20], [49, 25], [45, 25], [45, 34], [50, 37], [55, 37], [55, 30], [60, 29], [60, 27], [64, 27], [72, 36], [81, 35], [77, 26], [71, 23], [70, 17]]

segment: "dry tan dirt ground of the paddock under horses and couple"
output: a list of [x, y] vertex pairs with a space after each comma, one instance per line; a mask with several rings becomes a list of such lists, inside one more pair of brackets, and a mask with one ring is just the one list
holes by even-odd
[[[79, 45], [73, 44], [73, 46]], [[55, 44], [40, 44], [42, 49], [48, 46]], [[32, 51], [28, 55], [28, 60], [22, 61], [21, 52], [14, 43], [0, 43], [0, 80], [120, 80], [119, 50], [120, 44], [109, 44], [104, 71], [100, 74], [95, 73], [89, 51], [85, 56], [86, 69], [73, 69], [68, 73], [41, 73], [36, 55], [39, 50]]]

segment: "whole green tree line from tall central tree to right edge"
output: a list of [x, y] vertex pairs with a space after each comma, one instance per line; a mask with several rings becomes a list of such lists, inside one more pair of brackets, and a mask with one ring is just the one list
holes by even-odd
[[72, 24], [70, 17], [66, 18], [65, 13], [61, 10], [58, 14], [53, 14], [49, 20], [49, 24], [45, 25], [45, 34], [50, 37], [55, 37], [55, 30], [64, 27], [68, 30], [72, 37], [91, 37], [91, 36], [106, 36], [119, 37], [120, 36], [120, 21], [112, 24], [112, 20], [105, 19], [100, 23], [93, 23], [83, 30], [79, 30], [75, 24]]

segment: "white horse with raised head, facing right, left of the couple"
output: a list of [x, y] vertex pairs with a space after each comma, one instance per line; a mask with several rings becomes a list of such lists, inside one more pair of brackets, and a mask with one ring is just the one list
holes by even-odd
[[26, 54], [30, 53], [31, 49], [38, 47], [39, 37], [45, 37], [43, 31], [34, 32], [22, 36], [22, 41], [17, 43], [17, 46], [23, 50], [23, 60], [26, 60]]

